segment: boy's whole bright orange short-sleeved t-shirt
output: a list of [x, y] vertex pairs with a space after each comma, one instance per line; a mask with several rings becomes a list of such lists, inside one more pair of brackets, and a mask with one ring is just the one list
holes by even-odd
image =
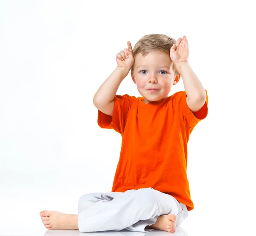
[[186, 104], [185, 91], [154, 104], [145, 104], [143, 100], [116, 95], [113, 116], [98, 110], [99, 127], [122, 135], [112, 192], [152, 187], [192, 210], [186, 175], [187, 143], [195, 125], [207, 117], [208, 95], [195, 114]]

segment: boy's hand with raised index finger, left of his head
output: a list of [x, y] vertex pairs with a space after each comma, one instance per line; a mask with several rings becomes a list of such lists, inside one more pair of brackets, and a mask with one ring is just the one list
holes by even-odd
[[133, 65], [133, 54], [132, 54], [131, 42], [127, 41], [127, 45], [128, 45], [128, 49], [125, 48], [123, 51], [120, 51], [119, 53], [116, 54], [116, 63], [117, 63], [117, 67], [129, 72]]

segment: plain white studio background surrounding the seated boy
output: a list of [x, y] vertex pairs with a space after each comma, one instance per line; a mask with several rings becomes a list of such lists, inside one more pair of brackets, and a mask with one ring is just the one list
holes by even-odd
[[[41, 210], [111, 192], [122, 137], [93, 96], [116, 54], [186, 35], [209, 96], [188, 143], [189, 236], [253, 234], [255, 18], [249, 1], [0, 1], [0, 235], [44, 235]], [[184, 90], [182, 79], [169, 95]], [[129, 73], [118, 95], [141, 96]], [[55, 235], [55, 234], [53, 234]]]

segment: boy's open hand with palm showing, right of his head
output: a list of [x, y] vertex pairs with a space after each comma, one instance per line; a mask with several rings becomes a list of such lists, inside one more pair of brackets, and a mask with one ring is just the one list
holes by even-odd
[[177, 42], [171, 47], [170, 58], [173, 63], [188, 61], [189, 58], [189, 43], [184, 35], [183, 38], [178, 38]]

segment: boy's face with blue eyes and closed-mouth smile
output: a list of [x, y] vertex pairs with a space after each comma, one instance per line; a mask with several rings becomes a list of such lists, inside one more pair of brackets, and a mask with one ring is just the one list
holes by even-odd
[[150, 52], [145, 57], [138, 54], [131, 77], [145, 104], [167, 98], [172, 85], [180, 79], [180, 75], [174, 78], [170, 55], [159, 51]]

